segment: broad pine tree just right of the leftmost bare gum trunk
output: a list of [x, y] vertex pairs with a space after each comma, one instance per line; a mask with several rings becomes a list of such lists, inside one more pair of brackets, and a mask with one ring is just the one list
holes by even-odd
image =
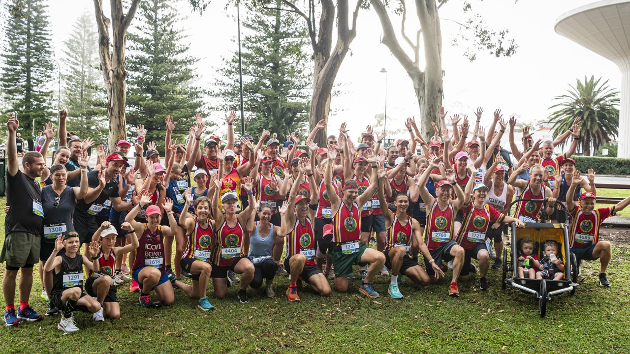
[[205, 91], [194, 85], [198, 59], [186, 55], [190, 46], [175, 26], [181, 20], [177, 6], [176, 1], [142, 1], [135, 28], [128, 33], [127, 123], [144, 124], [147, 141], [164, 140], [168, 115], [178, 122], [174, 136], [186, 137], [195, 113], [203, 111]]

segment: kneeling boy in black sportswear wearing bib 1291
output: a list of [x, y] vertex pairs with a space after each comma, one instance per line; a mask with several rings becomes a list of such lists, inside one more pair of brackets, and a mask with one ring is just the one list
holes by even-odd
[[[79, 330], [72, 312], [86, 310], [100, 311], [99, 304], [93, 297], [83, 292], [83, 266], [91, 271], [98, 270], [98, 244], [89, 243], [88, 251], [92, 260], [79, 253], [79, 234], [69, 231], [55, 239], [55, 249], [44, 265], [44, 271], [52, 271], [52, 292], [50, 299], [57, 309], [61, 310], [61, 321], [57, 329], [66, 333]], [[59, 251], [66, 249], [66, 253], [56, 256]]]

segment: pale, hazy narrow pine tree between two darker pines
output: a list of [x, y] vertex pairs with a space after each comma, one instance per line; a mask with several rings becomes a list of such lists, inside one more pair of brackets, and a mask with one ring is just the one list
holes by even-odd
[[64, 78], [64, 107], [68, 110], [67, 130], [81, 139], [107, 140], [106, 94], [98, 70], [98, 35], [92, 16], [83, 13], [64, 42], [67, 65]]

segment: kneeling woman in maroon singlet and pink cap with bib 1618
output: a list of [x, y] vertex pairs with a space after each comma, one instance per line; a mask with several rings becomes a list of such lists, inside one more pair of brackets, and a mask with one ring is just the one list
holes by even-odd
[[[132, 277], [140, 287], [140, 305], [145, 308], [171, 305], [175, 302], [174, 287], [190, 287], [175, 278], [170, 280], [164, 266], [164, 237], [173, 237], [177, 229], [177, 222], [173, 217], [173, 201], [167, 198], [162, 205], [168, 215], [169, 226], [160, 225], [162, 214], [157, 205], [149, 205], [146, 208], [145, 224], [134, 220], [140, 209], [150, 202], [151, 193], [144, 193], [140, 197], [140, 202], [125, 217], [125, 221], [134, 227], [135, 234], [140, 235], [131, 271]], [[155, 290], [159, 302], [151, 301], [151, 290]]]

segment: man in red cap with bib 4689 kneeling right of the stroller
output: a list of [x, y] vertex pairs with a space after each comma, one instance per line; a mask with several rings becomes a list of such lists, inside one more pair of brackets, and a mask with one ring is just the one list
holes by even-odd
[[[583, 177], [580, 171], [573, 171], [573, 180], [567, 195], [573, 195], [575, 189], [580, 185]], [[581, 261], [593, 261], [599, 258], [600, 273], [599, 285], [609, 287], [610, 282], [606, 278], [606, 268], [610, 262], [612, 249], [608, 241], [599, 241], [599, 228], [607, 217], [615, 215], [630, 204], [630, 197], [626, 197], [621, 202], [612, 207], [595, 209], [595, 193], [587, 191], [580, 195], [580, 205], [575, 205], [573, 198], [566, 200], [566, 208], [571, 215], [570, 242], [569, 248], [574, 253], [578, 264]], [[578, 270], [580, 269], [578, 266]]]

